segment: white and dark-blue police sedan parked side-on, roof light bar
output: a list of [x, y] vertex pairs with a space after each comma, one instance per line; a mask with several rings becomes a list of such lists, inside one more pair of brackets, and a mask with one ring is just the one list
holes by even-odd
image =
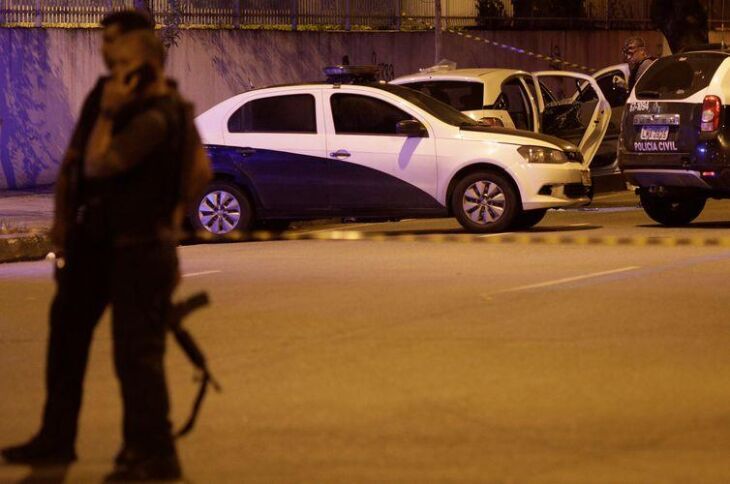
[[590, 202], [588, 168], [566, 141], [483, 126], [367, 67], [326, 72], [330, 82], [248, 91], [198, 116], [215, 177], [191, 214], [197, 229], [454, 216], [499, 232]]

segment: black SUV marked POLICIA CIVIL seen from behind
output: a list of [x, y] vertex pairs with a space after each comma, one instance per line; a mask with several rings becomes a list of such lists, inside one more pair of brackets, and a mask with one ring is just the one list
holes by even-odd
[[688, 224], [708, 198], [730, 198], [729, 71], [727, 51], [663, 57], [629, 97], [619, 167], [661, 224]]

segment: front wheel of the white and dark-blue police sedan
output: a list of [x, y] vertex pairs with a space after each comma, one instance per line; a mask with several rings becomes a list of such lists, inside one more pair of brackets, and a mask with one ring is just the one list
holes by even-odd
[[519, 197], [512, 183], [495, 172], [476, 172], [456, 184], [451, 208], [470, 232], [502, 232], [519, 212]]

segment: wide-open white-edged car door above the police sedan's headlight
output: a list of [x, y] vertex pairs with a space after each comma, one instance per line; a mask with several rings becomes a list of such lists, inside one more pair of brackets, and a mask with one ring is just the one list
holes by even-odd
[[553, 97], [547, 100], [542, 89], [536, 91], [542, 110], [542, 132], [578, 146], [584, 166], [589, 166], [611, 120], [611, 106], [596, 80], [563, 71], [536, 72], [534, 76]]

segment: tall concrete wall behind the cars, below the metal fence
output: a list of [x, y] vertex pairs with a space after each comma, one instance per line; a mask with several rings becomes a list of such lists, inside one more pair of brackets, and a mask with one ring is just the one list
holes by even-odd
[[[476, 32], [473, 32], [477, 34]], [[620, 61], [631, 32], [497, 31], [484, 38], [589, 67]], [[653, 50], [662, 36], [644, 32]], [[103, 65], [98, 30], [0, 28], [0, 188], [52, 183], [84, 96]], [[170, 52], [170, 74], [202, 112], [250, 85], [319, 80], [348, 55], [399, 76], [433, 64], [433, 33], [184, 31]], [[544, 61], [444, 35], [444, 56], [461, 67], [549, 69]]]

